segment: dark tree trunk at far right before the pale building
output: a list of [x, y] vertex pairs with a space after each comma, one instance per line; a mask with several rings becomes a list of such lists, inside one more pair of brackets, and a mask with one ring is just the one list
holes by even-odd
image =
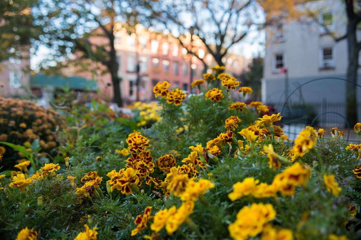
[[350, 125], [357, 123], [357, 69], [358, 52], [356, 39], [356, 24], [351, 19], [347, 26], [347, 44], [348, 44], [348, 67], [347, 79], [351, 82], [346, 84], [346, 117]]

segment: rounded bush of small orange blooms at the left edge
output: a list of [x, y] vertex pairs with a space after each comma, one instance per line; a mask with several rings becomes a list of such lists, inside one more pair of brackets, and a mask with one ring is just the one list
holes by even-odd
[[[0, 141], [25, 146], [35, 140], [41, 151], [51, 153], [58, 146], [57, 133], [64, 127], [63, 118], [51, 109], [45, 109], [27, 100], [0, 98]], [[0, 144], [3, 160], [0, 166], [9, 169], [24, 155], [10, 146]]]

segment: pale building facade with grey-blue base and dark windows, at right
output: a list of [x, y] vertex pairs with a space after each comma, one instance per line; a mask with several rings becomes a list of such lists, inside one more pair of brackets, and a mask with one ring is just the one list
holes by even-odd
[[[321, 9], [319, 22], [336, 36], [346, 31], [344, 3], [339, 0], [316, 1], [309, 8]], [[297, 86], [317, 78], [292, 95], [293, 103], [345, 102], [346, 83], [331, 79], [347, 76], [347, 41], [336, 42], [317, 21], [278, 23], [266, 30], [262, 101], [284, 102], [285, 92], [290, 94]], [[358, 32], [361, 38], [361, 31]], [[361, 58], [360, 58], [361, 60]], [[361, 81], [359, 71], [358, 82]], [[361, 89], [358, 96], [361, 96]], [[361, 99], [359, 98], [359, 101]], [[344, 114], [342, 112], [342, 114]]]

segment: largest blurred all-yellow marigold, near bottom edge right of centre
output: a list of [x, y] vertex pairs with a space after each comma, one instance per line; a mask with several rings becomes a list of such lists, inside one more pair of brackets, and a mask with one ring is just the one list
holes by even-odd
[[249, 207], [245, 206], [238, 212], [236, 221], [228, 226], [230, 236], [235, 240], [255, 237], [275, 217], [276, 211], [269, 203], [253, 203]]

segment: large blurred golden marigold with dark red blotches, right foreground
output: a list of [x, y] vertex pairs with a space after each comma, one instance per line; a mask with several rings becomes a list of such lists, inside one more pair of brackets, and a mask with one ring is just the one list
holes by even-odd
[[310, 171], [296, 162], [275, 176], [272, 185], [284, 195], [295, 194], [295, 186], [305, 186], [310, 178]]

